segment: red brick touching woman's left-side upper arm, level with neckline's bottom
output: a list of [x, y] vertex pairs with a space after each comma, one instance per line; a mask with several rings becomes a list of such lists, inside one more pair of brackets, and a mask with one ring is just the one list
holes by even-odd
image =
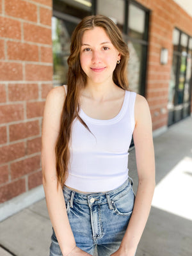
[[38, 135], [40, 132], [38, 121], [10, 125], [10, 141], [21, 140]]

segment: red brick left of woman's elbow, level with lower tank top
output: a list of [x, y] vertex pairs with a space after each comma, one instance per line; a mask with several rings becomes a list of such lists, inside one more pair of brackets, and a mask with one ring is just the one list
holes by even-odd
[[34, 156], [11, 164], [12, 179], [22, 177], [40, 168], [40, 156]]

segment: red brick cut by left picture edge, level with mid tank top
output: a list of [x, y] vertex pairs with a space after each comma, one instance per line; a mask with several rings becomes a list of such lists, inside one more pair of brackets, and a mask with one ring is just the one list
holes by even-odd
[[0, 164], [8, 163], [25, 155], [24, 142], [0, 147]]

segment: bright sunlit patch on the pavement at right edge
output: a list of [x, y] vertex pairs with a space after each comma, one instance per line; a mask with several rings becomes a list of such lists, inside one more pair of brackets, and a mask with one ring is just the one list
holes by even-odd
[[192, 156], [184, 157], [184, 159], [157, 184], [152, 206], [192, 220], [191, 195]]

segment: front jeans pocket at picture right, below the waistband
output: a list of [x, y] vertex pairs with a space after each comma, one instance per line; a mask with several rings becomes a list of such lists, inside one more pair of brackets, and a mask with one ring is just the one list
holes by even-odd
[[121, 216], [131, 215], [134, 206], [134, 198], [135, 196], [132, 189], [129, 189], [124, 196], [118, 198], [117, 200], [111, 200], [115, 214]]

